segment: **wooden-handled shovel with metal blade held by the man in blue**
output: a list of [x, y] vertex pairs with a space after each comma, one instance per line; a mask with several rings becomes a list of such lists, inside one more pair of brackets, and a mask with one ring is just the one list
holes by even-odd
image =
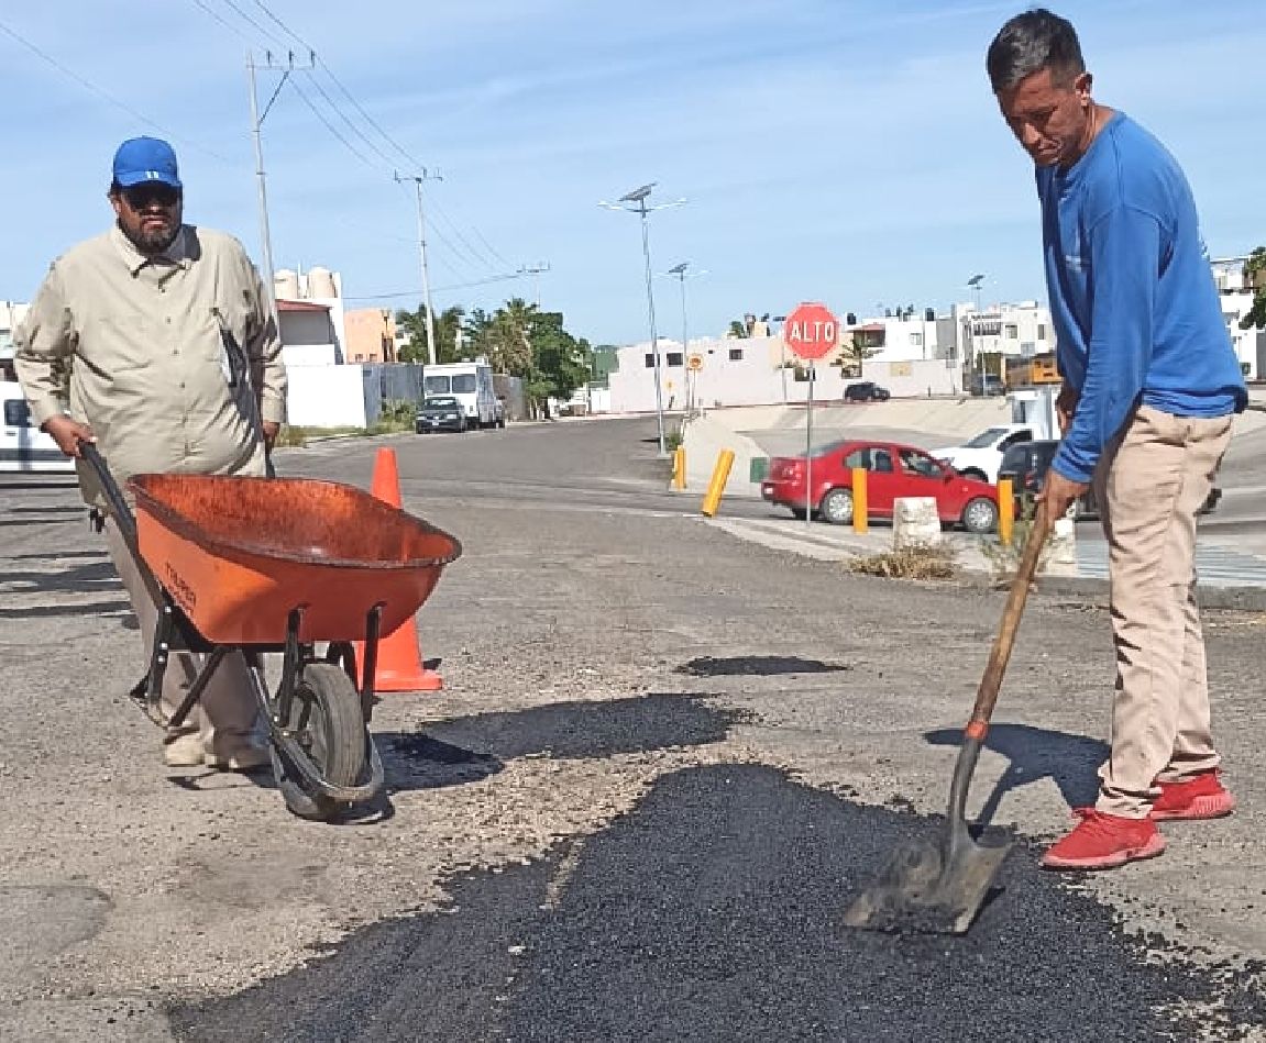
[[950, 810], [939, 841], [913, 841], [898, 848], [875, 882], [844, 913], [848, 927], [867, 930], [920, 930], [933, 934], [963, 934], [989, 896], [1010, 845], [985, 847], [967, 832], [967, 789], [989, 735], [989, 718], [998, 702], [998, 689], [1012, 657], [1015, 631], [1024, 602], [1037, 573], [1042, 546], [1051, 522], [1039, 507], [1029, 530], [1024, 552], [1012, 580], [1003, 621], [989, 654], [985, 675], [976, 693], [976, 705], [963, 728], [962, 746], [950, 784]]

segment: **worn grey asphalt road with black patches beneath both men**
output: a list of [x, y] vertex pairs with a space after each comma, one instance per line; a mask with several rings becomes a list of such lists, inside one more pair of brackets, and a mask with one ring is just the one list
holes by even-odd
[[73, 492], [4, 489], [0, 1037], [1255, 1038], [1260, 617], [1208, 619], [1241, 810], [1070, 881], [1036, 846], [1093, 798], [1112, 651], [1095, 601], [1034, 595], [972, 796], [1017, 831], [1004, 890], [965, 939], [861, 934], [848, 899], [937, 828], [1001, 597], [732, 540], [663, 492], [653, 421], [279, 468], [368, 485], [384, 445], [465, 555], [419, 616], [446, 689], [382, 697], [389, 804], [342, 826], [162, 769]]

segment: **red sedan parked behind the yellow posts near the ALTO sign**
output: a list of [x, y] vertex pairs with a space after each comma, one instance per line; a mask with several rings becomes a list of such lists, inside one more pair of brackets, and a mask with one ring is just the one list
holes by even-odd
[[[962, 525], [968, 532], [993, 532], [998, 526], [998, 489], [987, 482], [963, 478], [953, 468], [922, 449], [889, 441], [841, 441], [813, 456], [813, 512], [833, 525], [853, 520], [853, 468], [866, 469], [867, 515], [893, 517], [893, 501], [929, 496], [944, 525]], [[805, 513], [805, 458], [775, 456], [770, 477], [761, 483], [770, 503]]]

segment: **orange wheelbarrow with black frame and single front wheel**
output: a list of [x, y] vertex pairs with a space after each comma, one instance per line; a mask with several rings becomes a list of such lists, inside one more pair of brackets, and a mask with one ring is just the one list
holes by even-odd
[[[330, 820], [376, 798], [379, 638], [430, 597], [461, 544], [362, 489], [314, 479], [139, 474], [128, 480], [133, 515], [96, 448], [80, 448], [158, 606], [149, 671], [132, 692], [146, 714], [179, 727], [224, 657], [241, 652], [286, 807]], [[175, 651], [203, 664], [167, 717], [160, 697]], [[266, 652], [282, 656], [275, 693]]]

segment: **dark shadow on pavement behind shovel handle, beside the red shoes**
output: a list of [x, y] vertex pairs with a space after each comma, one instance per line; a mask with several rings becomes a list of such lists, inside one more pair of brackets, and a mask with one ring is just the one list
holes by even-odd
[[[933, 746], [958, 746], [962, 728], [938, 728], [923, 736]], [[994, 724], [985, 747], [1010, 764], [980, 812], [980, 822], [993, 822], [1003, 798], [1013, 789], [1051, 779], [1070, 808], [1095, 803], [1099, 780], [1095, 769], [1108, 757], [1108, 743], [1089, 736], [1069, 735], [1029, 724]]]

